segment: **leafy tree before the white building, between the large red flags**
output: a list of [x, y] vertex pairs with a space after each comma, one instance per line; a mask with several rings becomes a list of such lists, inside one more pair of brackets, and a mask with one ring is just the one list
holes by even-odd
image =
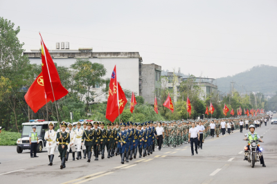
[[93, 88], [100, 88], [105, 84], [105, 80], [102, 79], [106, 75], [107, 70], [104, 65], [98, 63], [91, 63], [89, 60], [77, 59], [75, 64], [71, 65], [71, 68], [75, 70], [74, 75], [74, 90], [78, 91], [86, 101], [86, 111], [89, 109], [89, 102], [93, 102], [93, 99], [98, 95], [102, 95], [103, 91], [96, 93]]

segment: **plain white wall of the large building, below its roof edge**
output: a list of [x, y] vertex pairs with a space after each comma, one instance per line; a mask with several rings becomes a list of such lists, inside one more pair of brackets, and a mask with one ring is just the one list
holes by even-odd
[[[32, 58], [30, 57], [31, 64], [42, 64], [41, 58]], [[92, 63], [103, 64], [107, 70], [104, 79], [111, 77], [111, 72], [116, 65], [117, 80], [120, 83], [123, 89], [128, 89], [139, 94], [139, 58], [132, 57], [103, 57], [103, 58], [86, 58], [89, 59]], [[71, 64], [74, 64], [76, 61], [75, 58], [53, 58], [53, 62], [57, 63], [58, 66], [70, 67]], [[104, 86], [103, 86], [104, 87]], [[93, 89], [93, 91], [99, 92], [101, 89]], [[95, 99], [95, 102], [106, 101], [107, 97], [101, 95]]]

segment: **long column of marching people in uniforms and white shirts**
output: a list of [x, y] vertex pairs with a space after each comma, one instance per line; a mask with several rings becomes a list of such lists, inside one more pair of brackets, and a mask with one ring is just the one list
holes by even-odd
[[[50, 122], [44, 139], [48, 151], [49, 164], [53, 165], [54, 151], [58, 148], [61, 160], [60, 169], [66, 167], [66, 160], [72, 153], [73, 160], [87, 158], [91, 162], [91, 156], [98, 160], [119, 156], [122, 164], [136, 158], [149, 156], [155, 148], [161, 150], [162, 147], [180, 147], [190, 142], [192, 156], [194, 151], [202, 149], [207, 136], [211, 138], [233, 133], [235, 129], [248, 129], [250, 125], [261, 127], [262, 122], [267, 121], [269, 116], [259, 115], [255, 117], [242, 116], [240, 118], [205, 119], [205, 120], [172, 120], [157, 122], [116, 122], [107, 123], [87, 120], [83, 123], [77, 122], [74, 125], [66, 122], [60, 123], [60, 129], [54, 131], [54, 125]], [[33, 127], [33, 131], [35, 132]], [[30, 142], [36, 139], [30, 136]], [[195, 149], [193, 147], [195, 145]], [[34, 149], [35, 150], [35, 149]], [[77, 150], [77, 151], [76, 151]], [[31, 150], [31, 157], [33, 151]], [[35, 155], [35, 157], [37, 157]]]

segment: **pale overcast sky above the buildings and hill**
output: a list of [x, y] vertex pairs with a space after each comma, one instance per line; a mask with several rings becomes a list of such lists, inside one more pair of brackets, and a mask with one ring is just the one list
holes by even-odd
[[277, 1], [10, 1], [0, 17], [20, 26], [20, 42], [48, 48], [137, 51], [144, 64], [197, 77], [277, 66]]

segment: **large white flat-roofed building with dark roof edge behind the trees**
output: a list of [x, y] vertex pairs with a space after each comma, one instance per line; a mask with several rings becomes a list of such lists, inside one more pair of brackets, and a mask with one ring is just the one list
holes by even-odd
[[[58, 43], [57, 43], [58, 44]], [[141, 91], [141, 62], [143, 61], [138, 52], [111, 52], [111, 53], [93, 53], [92, 48], [79, 48], [78, 50], [60, 49], [60, 44], [57, 49], [48, 50], [53, 58], [53, 62], [58, 66], [70, 67], [76, 62], [76, 59], [88, 59], [92, 63], [103, 64], [107, 70], [104, 79], [111, 77], [111, 72], [116, 65], [117, 80], [123, 89], [134, 91], [138, 95]], [[41, 64], [41, 50], [31, 50], [24, 52], [28, 55], [31, 64]], [[102, 86], [105, 88], [105, 86]], [[92, 89], [96, 93], [100, 93], [102, 88]], [[94, 102], [107, 101], [106, 95], [100, 95], [94, 99]]]

